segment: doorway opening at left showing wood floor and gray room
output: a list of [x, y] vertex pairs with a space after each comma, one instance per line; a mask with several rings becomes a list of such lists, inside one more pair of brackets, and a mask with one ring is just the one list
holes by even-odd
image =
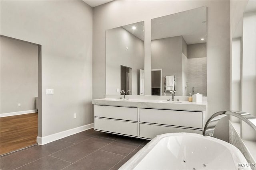
[[0, 155], [36, 145], [41, 133], [41, 45], [0, 35]]

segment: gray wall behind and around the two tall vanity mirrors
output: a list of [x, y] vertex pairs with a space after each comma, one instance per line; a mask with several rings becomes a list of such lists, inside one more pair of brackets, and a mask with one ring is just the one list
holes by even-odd
[[[145, 8], [146, 6], [146, 8]], [[151, 94], [151, 19], [207, 6], [207, 96], [209, 117], [229, 109], [229, 1], [112, 1], [93, 9], [93, 98], [106, 94], [105, 30], [144, 21], [145, 94]], [[114, 9], [114, 10], [113, 10]], [[132, 12], [131, 12], [132, 10]], [[154, 11], [154, 12], [152, 12]], [[118, 14], [118, 15], [117, 15]], [[218, 68], [218, 70], [216, 70]], [[221, 98], [216, 97], [216, 92]], [[221, 139], [228, 128], [221, 126]]]

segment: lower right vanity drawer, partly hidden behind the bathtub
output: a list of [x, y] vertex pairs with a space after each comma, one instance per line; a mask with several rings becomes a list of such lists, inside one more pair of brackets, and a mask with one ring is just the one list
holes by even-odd
[[193, 129], [183, 129], [178, 127], [167, 127], [160, 125], [147, 125], [140, 123], [140, 137], [153, 139], [156, 135], [161, 135], [164, 133], [178, 133], [178, 132], [188, 132], [188, 133], [198, 133], [202, 135], [202, 131]]

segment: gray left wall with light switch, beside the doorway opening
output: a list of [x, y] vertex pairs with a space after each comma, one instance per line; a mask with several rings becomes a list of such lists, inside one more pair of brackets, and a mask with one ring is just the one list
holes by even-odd
[[1, 34], [42, 45], [38, 136], [92, 123], [92, 8], [82, 1], [0, 3]]

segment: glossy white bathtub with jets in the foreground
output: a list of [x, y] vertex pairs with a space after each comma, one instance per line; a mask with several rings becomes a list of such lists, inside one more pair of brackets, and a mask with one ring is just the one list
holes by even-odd
[[248, 164], [233, 145], [194, 133], [158, 135], [128, 160], [121, 170], [237, 170]]

